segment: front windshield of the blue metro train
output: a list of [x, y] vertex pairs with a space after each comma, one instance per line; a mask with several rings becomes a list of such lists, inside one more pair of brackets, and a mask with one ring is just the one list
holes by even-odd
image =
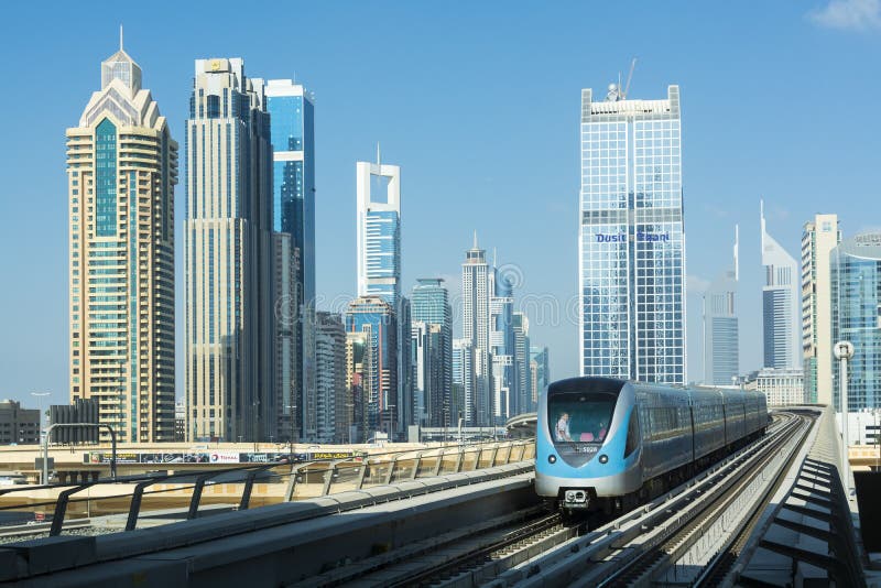
[[547, 399], [547, 418], [555, 443], [602, 443], [609, 433], [617, 396], [564, 392]]

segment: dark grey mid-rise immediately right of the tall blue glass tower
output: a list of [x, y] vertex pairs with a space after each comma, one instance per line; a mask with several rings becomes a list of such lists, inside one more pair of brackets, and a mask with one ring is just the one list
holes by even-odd
[[318, 443], [342, 443], [337, 420], [346, 410], [346, 330], [337, 314], [317, 313], [315, 324], [316, 421]]

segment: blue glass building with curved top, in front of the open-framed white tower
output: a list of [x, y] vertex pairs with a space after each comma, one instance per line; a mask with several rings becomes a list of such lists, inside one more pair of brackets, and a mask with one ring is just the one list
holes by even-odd
[[349, 303], [346, 333], [367, 334], [370, 348], [363, 384], [368, 395], [362, 401], [366, 433], [382, 431], [390, 438], [400, 431], [398, 331], [396, 315], [381, 296], [359, 296]]

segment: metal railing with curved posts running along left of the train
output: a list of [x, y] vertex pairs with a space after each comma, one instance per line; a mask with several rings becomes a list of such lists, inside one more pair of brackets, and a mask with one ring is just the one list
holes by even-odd
[[[233, 510], [251, 508], [255, 484], [263, 504], [290, 502], [374, 486], [396, 483], [446, 473], [525, 461], [535, 457], [533, 439], [514, 439], [480, 445], [456, 445], [432, 449], [374, 454], [363, 458], [316, 460], [307, 462], [273, 461], [236, 466], [211, 471], [189, 469], [174, 473], [145, 473], [99, 479], [84, 483], [42, 484], [0, 489], [0, 512], [52, 512], [50, 536], [59, 535], [65, 521], [105, 514], [128, 513], [124, 531], [137, 527], [148, 512], [167, 509], [168, 502], [185, 502], [186, 519], [199, 515], [207, 504], [222, 504]], [[184, 466], [187, 467], [187, 466]], [[98, 497], [91, 490], [110, 490]], [[61, 490], [51, 500], [2, 504], [9, 497], [34, 490]], [[88, 490], [89, 497], [77, 494]], [[118, 492], [113, 490], [119, 490]], [[20, 494], [19, 494], [20, 496]], [[128, 499], [128, 500], [127, 500]], [[95, 508], [93, 503], [115, 502]], [[126, 504], [120, 504], [120, 501]], [[164, 509], [163, 509], [164, 508]], [[181, 512], [181, 514], [183, 514]], [[0, 527], [0, 534], [2, 527]]]

